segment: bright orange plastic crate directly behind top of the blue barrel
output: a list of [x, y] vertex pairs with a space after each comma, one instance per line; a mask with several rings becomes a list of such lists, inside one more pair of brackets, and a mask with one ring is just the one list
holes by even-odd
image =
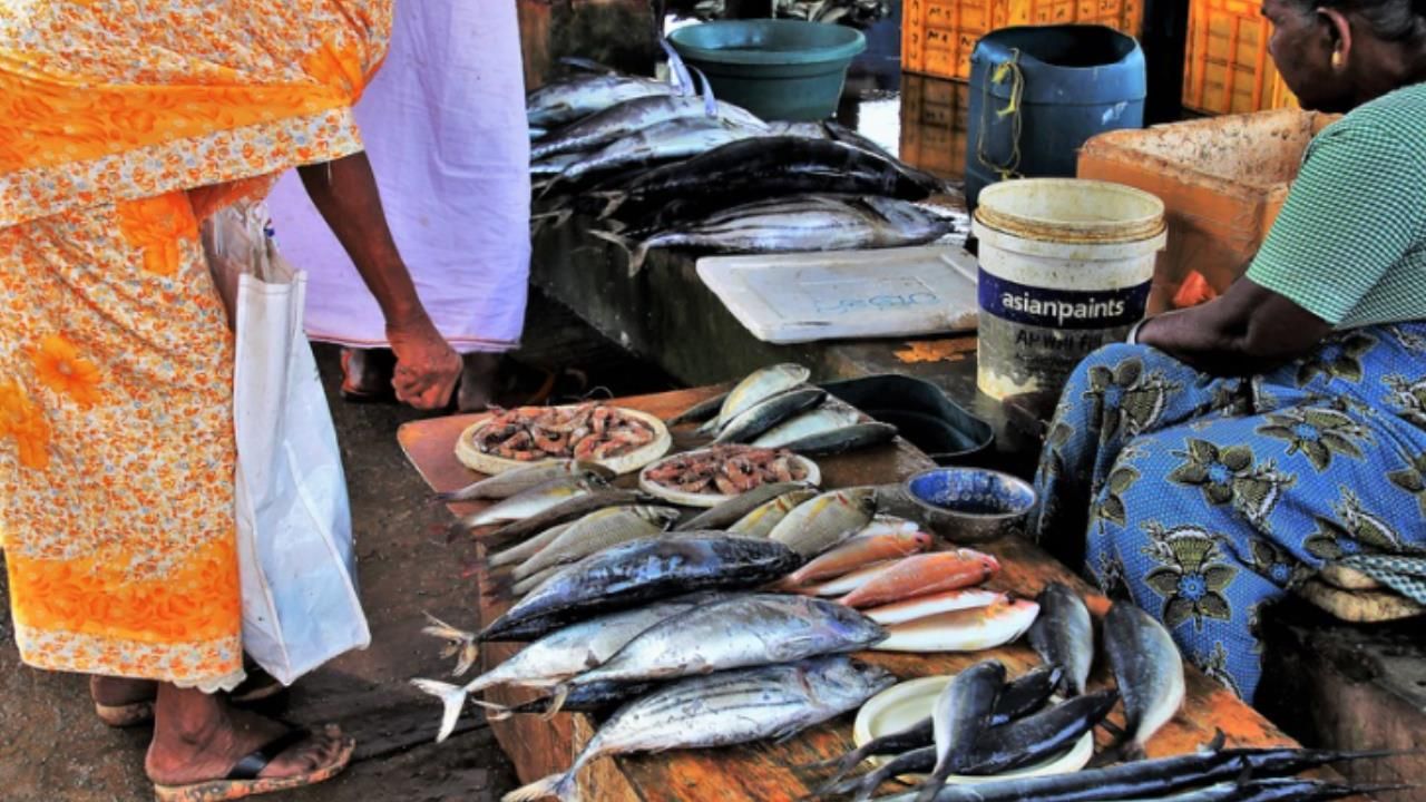
[[1101, 24], [1139, 36], [1142, 0], [903, 0], [901, 68], [970, 80], [983, 36], [1012, 26]]

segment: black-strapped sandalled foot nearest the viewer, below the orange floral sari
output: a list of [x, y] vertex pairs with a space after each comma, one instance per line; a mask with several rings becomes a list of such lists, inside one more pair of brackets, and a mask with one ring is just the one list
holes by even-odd
[[[287, 725], [230, 708], [221, 698], [195, 689], [161, 685], [155, 714], [144, 771], [160, 796], [170, 799], [184, 799], [185, 789], [197, 785], [204, 792], [217, 786], [244, 793], [278, 791], [291, 783], [251, 781], [304, 785], [337, 773], [351, 759], [352, 742], [335, 726], [284, 738], [291, 732]], [[250, 776], [235, 776], [241, 773]]]

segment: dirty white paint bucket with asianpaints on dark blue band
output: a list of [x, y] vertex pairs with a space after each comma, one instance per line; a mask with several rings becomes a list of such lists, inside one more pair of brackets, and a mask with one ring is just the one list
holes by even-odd
[[980, 240], [977, 384], [992, 398], [1057, 392], [1095, 348], [1144, 317], [1164, 250], [1164, 203], [1077, 178], [987, 187]]

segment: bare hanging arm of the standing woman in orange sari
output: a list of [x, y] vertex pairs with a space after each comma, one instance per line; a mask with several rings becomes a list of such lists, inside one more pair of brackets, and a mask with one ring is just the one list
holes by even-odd
[[411, 273], [396, 251], [365, 153], [298, 168], [302, 186], [351, 257], [386, 318], [396, 354], [396, 398], [421, 410], [451, 401], [461, 357], [421, 305]]

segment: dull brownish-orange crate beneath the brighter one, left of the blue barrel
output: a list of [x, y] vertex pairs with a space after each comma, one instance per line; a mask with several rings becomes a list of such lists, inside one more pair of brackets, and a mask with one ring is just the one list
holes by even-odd
[[970, 106], [965, 81], [901, 76], [901, 160], [943, 178], [963, 178]]

